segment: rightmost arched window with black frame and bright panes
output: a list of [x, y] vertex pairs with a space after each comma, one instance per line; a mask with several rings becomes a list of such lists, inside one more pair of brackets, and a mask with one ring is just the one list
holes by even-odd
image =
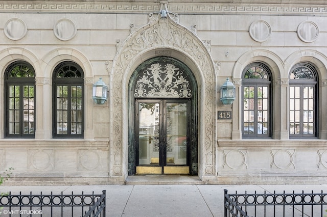
[[290, 138], [317, 137], [317, 72], [308, 63], [290, 73]]

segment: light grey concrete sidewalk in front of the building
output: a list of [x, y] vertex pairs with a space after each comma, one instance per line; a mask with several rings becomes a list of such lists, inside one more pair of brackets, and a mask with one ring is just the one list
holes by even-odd
[[[223, 190], [228, 193], [327, 192], [327, 185], [206, 185], [206, 184], [137, 184], [72, 186], [0, 186], [12, 194], [102, 194], [105, 189], [106, 216], [223, 216]], [[327, 214], [327, 213], [326, 213]], [[9, 215], [1, 215], [9, 216]], [[37, 215], [33, 215], [37, 216]], [[59, 215], [58, 215], [59, 216]], [[308, 216], [308, 215], [305, 215]]]

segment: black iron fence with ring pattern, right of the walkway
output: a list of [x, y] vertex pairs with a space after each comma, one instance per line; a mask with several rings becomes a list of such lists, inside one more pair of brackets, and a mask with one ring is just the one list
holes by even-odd
[[224, 190], [224, 217], [230, 216], [327, 216], [327, 194], [285, 193], [228, 194]]

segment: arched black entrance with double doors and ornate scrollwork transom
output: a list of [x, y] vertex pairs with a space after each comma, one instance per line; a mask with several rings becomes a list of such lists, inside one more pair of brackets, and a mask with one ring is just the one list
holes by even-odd
[[197, 83], [188, 66], [155, 57], [128, 85], [128, 174], [197, 174]]

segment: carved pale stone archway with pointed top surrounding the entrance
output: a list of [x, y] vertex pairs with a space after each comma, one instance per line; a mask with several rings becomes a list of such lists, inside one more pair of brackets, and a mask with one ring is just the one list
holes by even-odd
[[[161, 9], [166, 5], [161, 5]], [[110, 71], [110, 176], [127, 176], [128, 81], [134, 69], [156, 56], [170, 56], [188, 65], [198, 83], [199, 168], [198, 175], [213, 176], [215, 169], [215, 66], [208, 50], [195, 32], [178, 22], [176, 14], [150, 14], [149, 22], [132, 31], [118, 45]]]

